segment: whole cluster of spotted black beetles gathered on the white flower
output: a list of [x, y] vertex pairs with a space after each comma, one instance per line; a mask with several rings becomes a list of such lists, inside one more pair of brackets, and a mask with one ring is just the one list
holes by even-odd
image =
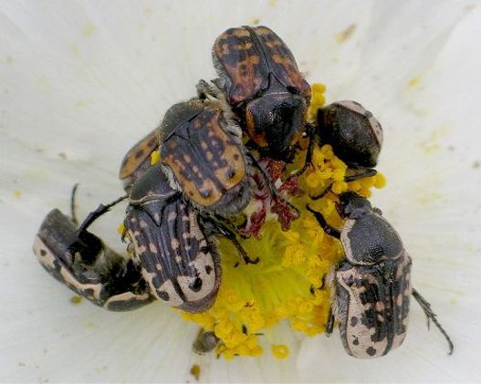
[[[258, 258], [246, 254], [237, 236], [258, 235], [267, 211], [288, 229], [299, 211], [285, 192], [296, 191], [295, 177], [308, 169], [315, 147], [329, 144], [348, 165], [346, 182], [376, 172], [380, 123], [354, 101], [319, 108], [317, 120], [308, 123], [310, 86], [272, 30], [230, 28], [215, 40], [212, 56], [218, 78], [200, 80], [197, 95], [168, 109], [160, 127], [126, 154], [120, 166], [125, 196], [100, 204], [79, 226], [73, 210], [72, 218], [53, 210], [40, 226], [34, 252], [41, 265], [96, 305], [123, 311], [158, 299], [203, 312], [214, 304], [221, 283], [216, 237], [228, 238], [245, 263], [255, 264]], [[304, 167], [286, 175], [286, 165], [301, 150]], [[157, 151], [160, 161], [152, 164]], [[122, 235], [129, 242], [128, 259], [88, 231], [123, 199], [129, 202]], [[236, 225], [252, 200], [261, 202], [262, 211]], [[353, 193], [340, 195], [346, 218], [341, 232], [308, 210], [327, 234], [340, 238], [346, 254], [329, 280], [328, 330], [337, 319], [352, 356], [387, 353], [403, 342], [409, 298], [419, 296], [399, 236]], [[423, 308], [438, 325], [425, 301]], [[201, 340], [198, 349], [215, 344]]]

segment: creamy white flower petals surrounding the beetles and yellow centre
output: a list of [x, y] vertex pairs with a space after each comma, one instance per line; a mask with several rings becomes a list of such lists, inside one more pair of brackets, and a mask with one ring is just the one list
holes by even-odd
[[[413, 256], [414, 286], [455, 342], [412, 306], [402, 348], [361, 361], [337, 332], [285, 325], [261, 358], [226, 362], [191, 350], [197, 327], [152, 304], [109, 313], [72, 293], [31, 251], [45, 214], [78, 214], [122, 192], [126, 150], [173, 103], [214, 78], [211, 47], [229, 26], [273, 28], [328, 101], [355, 99], [381, 120], [375, 202]], [[0, 2], [1, 381], [479, 381], [481, 336], [481, 6], [475, 1]], [[123, 207], [94, 229], [122, 250]], [[272, 340], [290, 348], [273, 358]]]

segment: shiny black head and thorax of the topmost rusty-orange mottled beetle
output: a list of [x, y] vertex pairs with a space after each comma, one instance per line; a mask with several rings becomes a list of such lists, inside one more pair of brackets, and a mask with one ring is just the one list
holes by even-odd
[[275, 160], [287, 161], [304, 129], [305, 104], [300, 95], [268, 93], [246, 106], [246, 126], [256, 145]]

